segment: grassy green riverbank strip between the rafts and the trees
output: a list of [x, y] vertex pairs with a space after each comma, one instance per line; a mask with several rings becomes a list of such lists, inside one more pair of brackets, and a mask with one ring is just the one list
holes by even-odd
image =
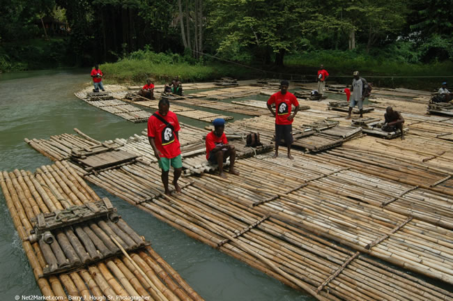
[[206, 82], [220, 77], [237, 79], [286, 78], [315, 80], [316, 71], [323, 63], [330, 73], [330, 80], [350, 84], [352, 72], [360, 73], [375, 86], [389, 88], [415, 88], [431, 91], [451, 76], [453, 63], [408, 63], [399, 58], [371, 56], [348, 51], [321, 51], [286, 56], [284, 67], [253, 65], [208, 58], [194, 61], [190, 56], [156, 54], [140, 50], [129, 54], [116, 63], [100, 67], [109, 84], [142, 84], [151, 78], [156, 84], [164, 84], [179, 76], [183, 82]]

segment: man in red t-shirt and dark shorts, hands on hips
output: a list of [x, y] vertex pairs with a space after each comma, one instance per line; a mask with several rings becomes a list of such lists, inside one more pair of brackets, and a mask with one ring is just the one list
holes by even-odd
[[[289, 159], [291, 156], [291, 144], [293, 144], [293, 119], [299, 111], [299, 102], [293, 93], [288, 92], [289, 82], [284, 80], [280, 83], [280, 91], [270, 96], [268, 100], [268, 109], [275, 116], [275, 154], [272, 157], [278, 157], [278, 146], [284, 139], [288, 148]], [[270, 105], [275, 104], [275, 111]], [[291, 114], [292, 106], [295, 107], [294, 113]]]

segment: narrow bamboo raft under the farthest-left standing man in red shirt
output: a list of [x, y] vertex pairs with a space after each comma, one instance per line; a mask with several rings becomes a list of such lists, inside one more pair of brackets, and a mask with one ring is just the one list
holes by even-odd
[[[112, 91], [118, 93], [117, 87], [105, 86], [105, 88], [107, 89], [107, 91], [112, 89]], [[87, 102], [94, 107], [108, 111], [109, 113], [120, 116], [121, 118], [124, 118], [127, 121], [131, 121], [133, 123], [146, 122], [148, 121], [149, 116], [151, 116], [151, 114], [147, 111], [144, 111], [132, 105], [128, 105], [121, 100], [114, 99], [114, 96], [110, 95], [111, 92], [91, 93], [90, 91], [91, 86], [75, 93], [75, 95], [77, 96], [77, 98], [84, 100], [84, 102]], [[109, 96], [105, 97], [105, 94], [109, 94]]]

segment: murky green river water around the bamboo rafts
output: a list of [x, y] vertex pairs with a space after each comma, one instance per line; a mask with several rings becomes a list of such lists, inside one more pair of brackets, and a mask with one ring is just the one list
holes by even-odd
[[[52, 161], [24, 138], [44, 139], [78, 128], [94, 139], [130, 137], [146, 123], [130, 123], [74, 96], [90, 82], [89, 70], [45, 70], [0, 74], [0, 171], [35, 171]], [[183, 122], [190, 123], [184, 120]], [[196, 125], [193, 123], [192, 125]], [[230, 256], [160, 222], [152, 215], [91, 185], [107, 196], [123, 219], [206, 300], [314, 300]], [[22, 243], [0, 194], [0, 295], [40, 295]]]

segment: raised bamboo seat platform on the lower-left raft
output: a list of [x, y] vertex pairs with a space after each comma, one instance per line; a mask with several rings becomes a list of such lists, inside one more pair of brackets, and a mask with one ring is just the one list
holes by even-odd
[[47, 265], [43, 275], [69, 272], [150, 245], [116, 214], [109, 199], [84, 203], [31, 219], [28, 240], [38, 242]]

